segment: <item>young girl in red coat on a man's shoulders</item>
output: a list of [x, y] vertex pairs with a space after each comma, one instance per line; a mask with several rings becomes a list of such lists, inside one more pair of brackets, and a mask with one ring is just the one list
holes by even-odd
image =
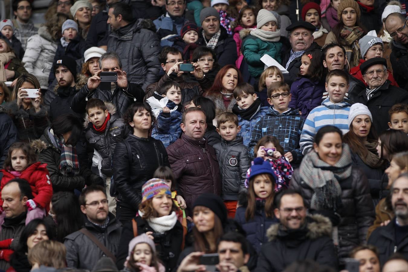
[[[41, 164], [34, 150], [27, 143], [17, 142], [10, 146], [7, 159], [4, 161], [4, 169], [0, 184], [0, 207], [3, 205], [1, 190], [11, 179], [25, 179], [30, 184], [33, 199], [26, 203], [28, 207], [26, 223], [32, 219], [42, 218], [46, 215], [45, 209], [49, 210], [53, 189], [49, 180], [47, 164]], [[2, 211], [2, 208], [0, 208]], [[4, 212], [2, 213], [4, 220]]]

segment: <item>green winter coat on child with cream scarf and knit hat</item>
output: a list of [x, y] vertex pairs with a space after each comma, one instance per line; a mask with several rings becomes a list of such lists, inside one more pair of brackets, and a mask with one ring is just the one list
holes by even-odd
[[241, 51], [248, 63], [248, 71], [252, 77], [258, 78], [264, 71], [265, 64], [260, 60], [265, 54], [273, 57], [281, 63], [280, 51], [281, 42], [265, 42], [250, 34], [251, 29], [242, 29], [239, 31], [239, 37], [242, 40]]

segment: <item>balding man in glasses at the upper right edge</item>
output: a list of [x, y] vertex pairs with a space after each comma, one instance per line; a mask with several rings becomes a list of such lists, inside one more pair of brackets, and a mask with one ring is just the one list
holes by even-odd
[[391, 13], [385, 19], [386, 31], [392, 37], [390, 61], [394, 78], [401, 88], [408, 90], [408, 27], [401, 13]]

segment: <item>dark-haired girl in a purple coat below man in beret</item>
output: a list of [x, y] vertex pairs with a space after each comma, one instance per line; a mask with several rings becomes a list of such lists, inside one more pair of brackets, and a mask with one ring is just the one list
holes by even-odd
[[306, 119], [313, 108], [320, 106], [325, 91], [322, 52], [319, 49], [307, 51], [302, 55], [302, 65], [298, 79], [290, 87], [292, 100], [289, 108], [299, 109], [299, 114]]

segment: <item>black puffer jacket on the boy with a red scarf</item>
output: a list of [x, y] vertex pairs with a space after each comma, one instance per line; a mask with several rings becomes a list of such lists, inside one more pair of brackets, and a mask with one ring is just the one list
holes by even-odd
[[85, 117], [84, 127], [86, 128], [86, 140], [102, 157], [101, 172], [107, 177], [111, 177], [113, 175], [112, 156], [115, 146], [118, 142], [122, 142], [130, 131], [123, 119], [119, 118], [115, 106], [109, 102], [105, 102], [105, 105], [111, 114], [105, 131], [103, 133], [96, 131], [93, 124], [89, 122], [88, 114]]

